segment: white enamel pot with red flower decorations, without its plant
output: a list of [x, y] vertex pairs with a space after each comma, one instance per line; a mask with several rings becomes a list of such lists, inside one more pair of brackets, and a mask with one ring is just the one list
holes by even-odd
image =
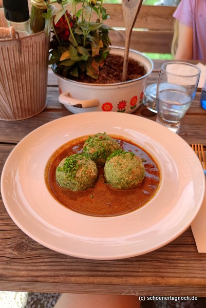
[[[124, 55], [123, 47], [112, 47], [111, 53]], [[140, 52], [130, 49], [129, 57], [139, 61], [146, 70], [140, 78], [115, 84], [88, 84], [58, 77], [62, 103], [72, 113], [90, 111], [134, 112], [142, 103], [146, 78], [153, 70], [153, 62]]]

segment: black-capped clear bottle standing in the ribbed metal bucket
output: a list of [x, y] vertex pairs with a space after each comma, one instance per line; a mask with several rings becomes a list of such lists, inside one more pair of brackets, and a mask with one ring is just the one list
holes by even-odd
[[3, 0], [3, 7], [9, 27], [14, 27], [20, 37], [32, 34], [27, 0]]

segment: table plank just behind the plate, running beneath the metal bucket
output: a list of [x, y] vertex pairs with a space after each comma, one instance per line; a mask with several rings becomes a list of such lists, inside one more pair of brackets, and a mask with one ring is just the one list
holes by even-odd
[[[188, 143], [201, 142], [206, 143], [205, 140], [205, 115], [206, 111], [199, 108], [200, 105], [200, 94], [198, 94], [197, 100], [194, 100], [188, 113], [182, 120], [180, 136]], [[198, 112], [199, 110], [199, 112]], [[51, 104], [49, 102], [47, 108], [35, 117], [21, 121], [0, 121], [0, 130], [4, 131], [4, 134], [0, 134], [0, 143], [18, 143], [24, 138], [29, 132], [38, 128], [39, 126], [46, 124], [52, 120], [66, 115], [72, 114], [59, 102], [53, 100]], [[141, 115], [145, 118], [155, 121], [156, 114], [149, 112], [144, 106], [141, 106], [135, 115]], [[191, 141], [190, 141], [190, 138]]]

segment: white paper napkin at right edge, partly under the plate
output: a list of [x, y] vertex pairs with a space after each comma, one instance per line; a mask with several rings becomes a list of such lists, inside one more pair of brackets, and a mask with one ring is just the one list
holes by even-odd
[[206, 253], [206, 192], [199, 213], [191, 224], [198, 253]]

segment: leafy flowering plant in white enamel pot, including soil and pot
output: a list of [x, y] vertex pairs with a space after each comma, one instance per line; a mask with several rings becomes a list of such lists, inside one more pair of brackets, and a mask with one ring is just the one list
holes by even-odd
[[[49, 63], [58, 76], [59, 101], [73, 113], [134, 112], [153, 63], [130, 50], [128, 70], [133, 71], [121, 82], [124, 48], [110, 47], [112, 29], [104, 24], [108, 15], [103, 0], [73, 0], [71, 13], [66, 10], [68, 0], [45, 2], [45, 30], [52, 32]], [[59, 9], [53, 8], [54, 2]]]

